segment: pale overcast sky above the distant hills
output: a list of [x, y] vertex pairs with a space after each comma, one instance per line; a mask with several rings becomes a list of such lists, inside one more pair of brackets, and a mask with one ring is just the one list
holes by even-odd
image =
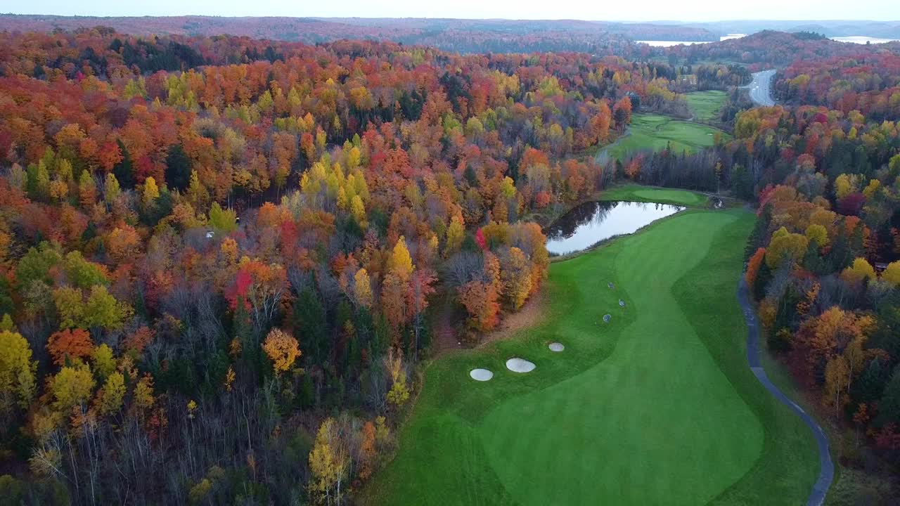
[[900, 20], [900, 0], [4, 0], [0, 13], [449, 17], [591, 21]]

